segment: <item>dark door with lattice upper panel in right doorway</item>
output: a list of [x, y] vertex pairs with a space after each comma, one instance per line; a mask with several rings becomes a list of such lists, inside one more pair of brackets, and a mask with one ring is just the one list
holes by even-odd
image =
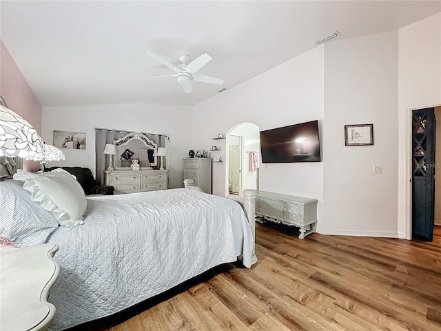
[[412, 112], [412, 238], [433, 241], [435, 108]]

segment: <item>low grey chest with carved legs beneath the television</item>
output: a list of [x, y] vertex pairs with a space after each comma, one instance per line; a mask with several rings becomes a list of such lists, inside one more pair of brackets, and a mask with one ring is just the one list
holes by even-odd
[[256, 217], [300, 228], [300, 239], [316, 232], [317, 200], [294, 195], [259, 191]]

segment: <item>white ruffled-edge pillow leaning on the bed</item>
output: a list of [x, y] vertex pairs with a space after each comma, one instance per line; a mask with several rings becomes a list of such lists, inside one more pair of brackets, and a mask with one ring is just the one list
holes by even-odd
[[14, 179], [25, 181], [23, 188], [31, 193], [31, 199], [54, 215], [60, 225], [83, 224], [87, 201], [83, 188], [69, 172], [61, 168], [43, 174], [18, 170]]

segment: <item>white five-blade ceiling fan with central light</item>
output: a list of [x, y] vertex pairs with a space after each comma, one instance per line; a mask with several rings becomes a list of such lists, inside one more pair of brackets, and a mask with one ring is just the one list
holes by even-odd
[[150, 55], [156, 61], [162, 63], [164, 66], [172, 69], [174, 74], [163, 74], [161, 76], [147, 77], [147, 79], [155, 79], [161, 77], [176, 77], [178, 83], [180, 83], [185, 93], [192, 92], [192, 81], [202, 81], [203, 83], [210, 83], [216, 85], [222, 85], [223, 80], [217, 79], [214, 77], [205, 76], [203, 74], [196, 74], [196, 72], [205, 66], [209, 60], [212, 59], [207, 53], [202, 54], [201, 56], [194, 59], [192, 62], [188, 63], [190, 57], [186, 54], [183, 54], [179, 57], [179, 61], [181, 63], [178, 66], [174, 66], [174, 64], [165, 61], [162, 57], [154, 54], [153, 52], [148, 51], [147, 54]]

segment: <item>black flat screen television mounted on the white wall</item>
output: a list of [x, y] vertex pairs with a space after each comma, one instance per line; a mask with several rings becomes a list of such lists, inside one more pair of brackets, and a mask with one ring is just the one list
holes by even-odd
[[260, 131], [262, 163], [320, 162], [318, 121]]

